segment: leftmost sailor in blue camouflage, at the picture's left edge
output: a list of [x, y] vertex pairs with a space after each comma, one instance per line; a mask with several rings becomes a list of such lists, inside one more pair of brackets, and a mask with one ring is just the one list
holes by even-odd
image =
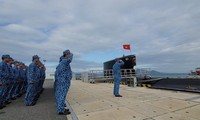
[[9, 55], [2, 55], [2, 62], [0, 63], [0, 109], [5, 107], [7, 80], [9, 80], [8, 62]]

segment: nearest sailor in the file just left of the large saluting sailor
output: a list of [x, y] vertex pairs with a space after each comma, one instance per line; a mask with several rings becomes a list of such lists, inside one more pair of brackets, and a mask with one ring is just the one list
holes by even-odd
[[35, 97], [37, 95], [37, 69], [39, 64], [39, 57], [38, 55], [34, 55], [32, 59], [32, 63], [28, 67], [28, 86], [27, 86], [27, 92], [25, 96], [25, 104], [26, 106], [33, 106], [36, 104]]

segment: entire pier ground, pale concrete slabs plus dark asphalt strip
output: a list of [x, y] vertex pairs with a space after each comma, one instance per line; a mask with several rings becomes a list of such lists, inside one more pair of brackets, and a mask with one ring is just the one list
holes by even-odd
[[35, 106], [25, 106], [24, 96], [0, 110], [1, 120], [198, 120], [200, 95], [179, 91], [121, 85], [122, 98], [112, 94], [111, 83], [85, 83], [72, 80], [67, 96], [71, 115], [56, 113], [53, 81]]

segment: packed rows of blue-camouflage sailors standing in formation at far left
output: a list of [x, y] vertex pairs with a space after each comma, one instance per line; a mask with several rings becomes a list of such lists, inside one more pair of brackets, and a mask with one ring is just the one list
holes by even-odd
[[[38, 59], [38, 62], [35, 62]], [[43, 91], [45, 66], [37, 55], [28, 66], [14, 60], [10, 55], [2, 55], [0, 62], [0, 109], [10, 104], [12, 100], [25, 95], [25, 104], [34, 105]], [[32, 87], [34, 86], [34, 90]]]

